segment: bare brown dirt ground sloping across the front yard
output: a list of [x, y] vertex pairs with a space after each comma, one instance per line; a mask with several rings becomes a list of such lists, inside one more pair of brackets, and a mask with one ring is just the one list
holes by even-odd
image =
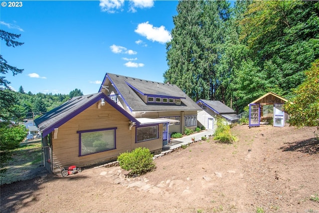
[[319, 213], [315, 128], [247, 125], [238, 141], [196, 142], [125, 178], [120, 167], [85, 169], [1, 186], [1, 213]]

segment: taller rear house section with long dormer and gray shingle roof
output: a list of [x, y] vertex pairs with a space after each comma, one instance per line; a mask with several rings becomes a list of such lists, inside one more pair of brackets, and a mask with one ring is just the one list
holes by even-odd
[[106, 73], [99, 92], [136, 119], [164, 119], [163, 145], [172, 132], [184, 133], [184, 127], [195, 130], [197, 112], [202, 109], [180, 88], [134, 77]]

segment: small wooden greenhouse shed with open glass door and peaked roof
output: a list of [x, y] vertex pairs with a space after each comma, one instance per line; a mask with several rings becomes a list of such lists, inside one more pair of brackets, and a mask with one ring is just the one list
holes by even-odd
[[273, 124], [274, 127], [284, 127], [289, 115], [284, 111], [288, 100], [274, 92], [268, 92], [257, 98], [249, 106], [249, 128], [261, 124]]

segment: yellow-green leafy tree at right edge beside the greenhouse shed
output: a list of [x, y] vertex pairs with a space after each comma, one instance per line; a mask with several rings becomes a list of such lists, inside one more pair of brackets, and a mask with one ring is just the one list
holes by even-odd
[[305, 81], [294, 90], [296, 96], [284, 108], [291, 125], [319, 126], [319, 59], [305, 74]]

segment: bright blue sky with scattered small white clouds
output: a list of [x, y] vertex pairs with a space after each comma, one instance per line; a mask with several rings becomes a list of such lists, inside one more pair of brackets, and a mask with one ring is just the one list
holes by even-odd
[[24, 69], [5, 75], [13, 90], [69, 94], [77, 88], [92, 94], [107, 72], [163, 82], [178, 1], [5, 2], [0, 29], [21, 34], [18, 41], [24, 42], [13, 48], [1, 40], [3, 58]]

